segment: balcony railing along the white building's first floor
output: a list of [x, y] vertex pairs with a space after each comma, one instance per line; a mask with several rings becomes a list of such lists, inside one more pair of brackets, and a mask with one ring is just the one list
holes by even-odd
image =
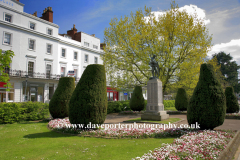
[[[22, 70], [11, 70], [8, 69], [5, 73], [8, 73], [11, 77], [22, 77], [25, 78], [26, 75], [28, 75], [28, 78], [37, 78], [37, 79], [53, 79], [53, 80], [59, 80], [62, 76], [59, 74], [46, 74], [46, 73], [40, 73], [40, 72], [27, 72]], [[75, 77], [75, 82], [78, 82], [80, 80], [79, 77]]]

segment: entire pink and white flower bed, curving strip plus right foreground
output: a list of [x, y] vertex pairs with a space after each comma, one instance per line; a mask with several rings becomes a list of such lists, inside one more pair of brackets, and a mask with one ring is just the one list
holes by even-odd
[[68, 118], [55, 119], [49, 122], [49, 128], [57, 131], [77, 133], [81, 136], [102, 138], [162, 138], [179, 137], [172, 144], [165, 144], [154, 151], [136, 157], [135, 160], [147, 159], [216, 159], [234, 137], [235, 131], [199, 131], [196, 129], [133, 129], [111, 128], [80, 131], [64, 127], [71, 125]]

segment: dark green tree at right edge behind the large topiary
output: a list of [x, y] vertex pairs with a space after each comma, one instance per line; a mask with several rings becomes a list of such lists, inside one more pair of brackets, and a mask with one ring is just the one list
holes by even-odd
[[236, 61], [230, 62], [233, 57], [225, 52], [221, 51], [219, 53], [215, 53], [212, 57], [216, 57], [218, 64], [221, 64], [221, 72], [223, 76], [226, 76], [226, 81], [229, 86], [233, 86], [234, 91], [236, 93], [240, 92], [240, 85], [238, 84], [238, 69], [240, 66], [237, 65]]

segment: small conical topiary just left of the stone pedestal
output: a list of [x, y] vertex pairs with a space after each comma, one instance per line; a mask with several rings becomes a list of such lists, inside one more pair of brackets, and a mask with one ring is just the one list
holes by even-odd
[[129, 106], [133, 111], [141, 111], [144, 109], [144, 98], [141, 86], [136, 86], [134, 88]]

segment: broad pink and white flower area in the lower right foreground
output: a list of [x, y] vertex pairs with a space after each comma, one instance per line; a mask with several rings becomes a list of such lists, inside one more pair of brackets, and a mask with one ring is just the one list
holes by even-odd
[[234, 137], [234, 132], [198, 131], [189, 132], [174, 140], [172, 144], [149, 151], [133, 160], [148, 159], [216, 159]]

